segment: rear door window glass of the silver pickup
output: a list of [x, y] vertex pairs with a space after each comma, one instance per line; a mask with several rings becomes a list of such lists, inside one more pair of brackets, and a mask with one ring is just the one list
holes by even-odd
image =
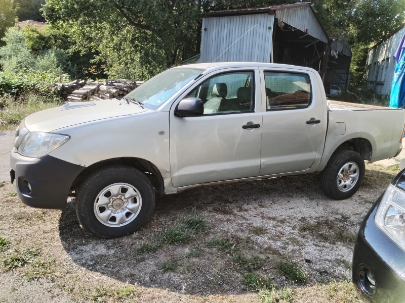
[[305, 74], [265, 72], [267, 111], [306, 108], [311, 103], [311, 83]]

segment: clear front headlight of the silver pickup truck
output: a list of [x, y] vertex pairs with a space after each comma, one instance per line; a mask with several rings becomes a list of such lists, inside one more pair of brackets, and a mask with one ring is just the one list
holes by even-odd
[[22, 156], [39, 158], [48, 155], [69, 139], [67, 135], [29, 132], [24, 136], [17, 151]]

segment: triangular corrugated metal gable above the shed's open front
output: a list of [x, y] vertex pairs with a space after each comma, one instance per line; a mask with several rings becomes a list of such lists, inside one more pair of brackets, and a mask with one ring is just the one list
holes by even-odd
[[294, 7], [273, 7], [273, 10], [278, 20], [294, 26], [322, 42], [328, 43], [328, 34], [322, 28], [309, 3]]

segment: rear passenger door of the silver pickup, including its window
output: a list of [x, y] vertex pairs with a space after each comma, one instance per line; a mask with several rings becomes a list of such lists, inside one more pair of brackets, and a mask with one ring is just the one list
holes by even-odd
[[260, 69], [263, 130], [260, 176], [308, 170], [320, 145], [326, 109], [312, 72]]

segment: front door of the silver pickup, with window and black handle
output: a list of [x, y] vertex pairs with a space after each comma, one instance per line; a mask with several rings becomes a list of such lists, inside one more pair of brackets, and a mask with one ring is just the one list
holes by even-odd
[[[258, 78], [258, 69], [238, 69], [201, 80], [185, 97], [203, 100], [202, 116], [179, 118], [174, 115], [179, 101], [172, 106], [174, 187], [259, 175], [262, 113]], [[248, 126], [251, 124], [256, 128]]]

